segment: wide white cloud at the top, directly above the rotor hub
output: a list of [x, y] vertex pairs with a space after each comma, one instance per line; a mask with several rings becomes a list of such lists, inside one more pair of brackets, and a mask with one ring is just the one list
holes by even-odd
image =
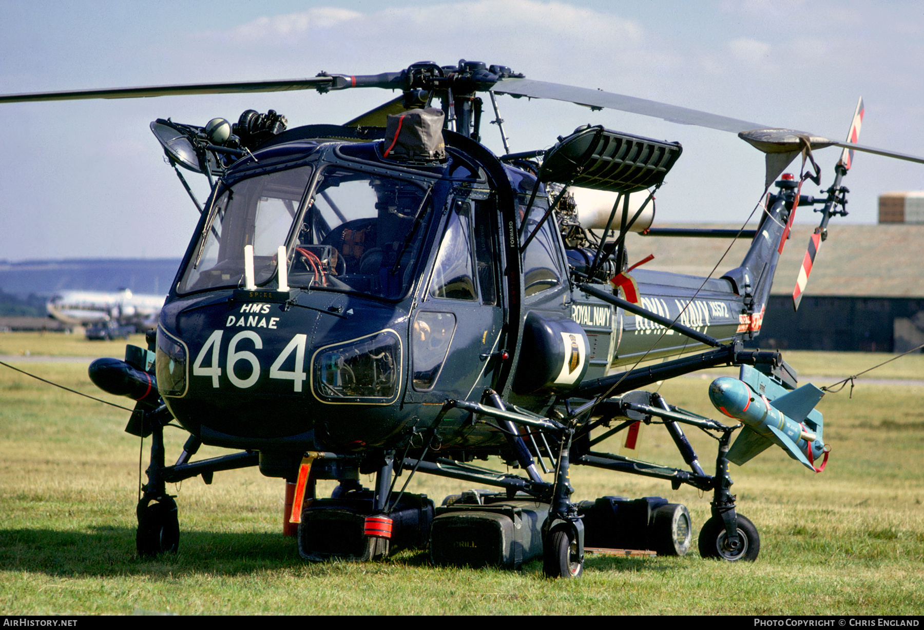
[[229, 30], [201, 33], [201, 37], [206, 45], [230, 43], [243, 46], [251, 55], [261, 55], [261, 48], [291, 51], [291, 46], [298, 45], [304, 47], [302, 51], [336, 58], [361, 44], [363, 54], [371, 60], [411, 50], [426, 50], [434, 56], [451, 47], [455, 55], [450, 59], [455, 62], [463, 53], [460, 47], [474, 51], [470, 53], [473, 58], [485, 57], [489, 51], [548, 57], [559, 55], [563, 49], [577, 49], [589, 58], [591, 53], [599, 58], [638, 46], [643, 32], [632, 20], [590, 8], [537, 0], [478, 0], [391, 6], [370, 13], [318, 7], [257, 18]]

